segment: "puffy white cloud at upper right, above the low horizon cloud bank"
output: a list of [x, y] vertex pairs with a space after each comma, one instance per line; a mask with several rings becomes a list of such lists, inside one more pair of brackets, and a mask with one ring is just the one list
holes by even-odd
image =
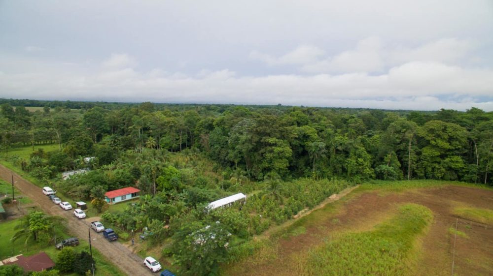
[[381, 73], [386, 68], [414, 61], [454, 63], [471, 56], [477, 46], [473, 41], [447, 38], [410, 48], [387, 46], [378, 37], [368, 37], [359, 40], [353, 50], [334, 56], [325, 56], [325, 52], [315, 46], [300, 46], [279, 58], [257, 51], [250, 53], [250, 58], [270, 66], [300, 65], [299, 69], [308, 73]]

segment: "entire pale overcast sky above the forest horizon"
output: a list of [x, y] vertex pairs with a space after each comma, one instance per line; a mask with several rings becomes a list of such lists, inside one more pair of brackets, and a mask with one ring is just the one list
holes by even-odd
[[0, 0], [0, 97], [493, 111], [493, 0]]

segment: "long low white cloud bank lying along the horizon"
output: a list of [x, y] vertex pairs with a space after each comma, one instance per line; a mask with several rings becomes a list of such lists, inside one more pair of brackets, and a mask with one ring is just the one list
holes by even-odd
[[[87, 72], [87, 71], [86, 71]], [[99, 73], [0, 74], [3, 97], [111, 101], [211, 102], [384, 109], [493, 111], [493, 71], [415, 61], [367, 73], [239, 76], [228, 69], [168, 74], [160, 69]], [[49, 92], [46, 93], [46, 92]], [[478, 99], [482, 98], [482, 101]], [[484, 100], [485, 98], [489, 100]], [[447, 99], [447, 100], [444, 100]]]

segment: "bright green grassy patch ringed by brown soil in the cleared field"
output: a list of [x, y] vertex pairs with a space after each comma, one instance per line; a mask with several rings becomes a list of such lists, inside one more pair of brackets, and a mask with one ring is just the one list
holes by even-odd
[[299, 275], [408, 275], [415, 240], [432, 219], [424, 206], [403, 205], [372, 231], [345, 234], [300, 255]]

